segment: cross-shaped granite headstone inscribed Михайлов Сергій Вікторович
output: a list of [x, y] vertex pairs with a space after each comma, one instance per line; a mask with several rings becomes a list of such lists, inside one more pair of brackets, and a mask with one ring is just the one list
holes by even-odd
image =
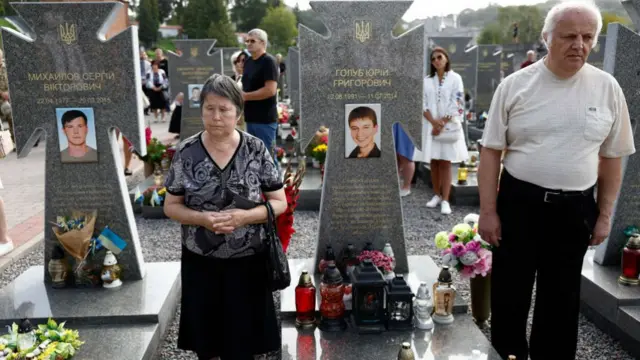
[[[26, 34], [3, 28], [18, 157], [29, 154], [42, 132], [47, 136], [45, 263], [58, 243], [50, 222], [96, 210], [95, 228], [108, 225], [127, 243], [118, 255], [124, 281], [140, 280], [144, 261], [115, 133], [146, 154], [137, 28], [105, 40], [110, 16], [121, 6], [113, 2], [13, 6], [28, 26]], [[70, 139], [66, 117], [70, 134], [80, 129]], [[76, 146], [82, 154], [72, 156], [73, 143], [87, 147]]]

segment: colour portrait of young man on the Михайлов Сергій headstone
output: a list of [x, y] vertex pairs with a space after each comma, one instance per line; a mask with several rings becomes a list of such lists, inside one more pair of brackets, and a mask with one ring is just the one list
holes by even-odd
[[93, 108], [57, 108], [60, 161], [96, 162], [96, 122]]

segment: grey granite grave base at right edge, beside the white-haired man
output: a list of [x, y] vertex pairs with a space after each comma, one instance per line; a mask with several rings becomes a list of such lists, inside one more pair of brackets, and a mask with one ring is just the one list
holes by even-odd
[[605, 333], [640, 358], [640, 287], [618, 283], [620, 266], [601, 266], [587, 251], [582, 265], [580, 310]]

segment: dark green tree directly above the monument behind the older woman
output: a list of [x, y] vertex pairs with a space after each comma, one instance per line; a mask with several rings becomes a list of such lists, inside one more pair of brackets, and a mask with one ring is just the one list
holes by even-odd
[[183, 26], [190, 39], [213, 37], [217, 46], [237, 46], [224, 0], [190, 0]]

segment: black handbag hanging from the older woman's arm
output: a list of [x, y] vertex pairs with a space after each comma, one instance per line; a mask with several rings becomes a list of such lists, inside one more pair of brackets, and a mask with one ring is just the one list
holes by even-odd
[[276, 217], [269, 201], [265, 202], [267, 208], [267, 224], [265, 232], [265, 247], [267, 250], [267, 282], [271, 291], [284, 290], [291, 285], [291, 272], [289, 261], [282, 249], [282, 243], [276, 231]]

